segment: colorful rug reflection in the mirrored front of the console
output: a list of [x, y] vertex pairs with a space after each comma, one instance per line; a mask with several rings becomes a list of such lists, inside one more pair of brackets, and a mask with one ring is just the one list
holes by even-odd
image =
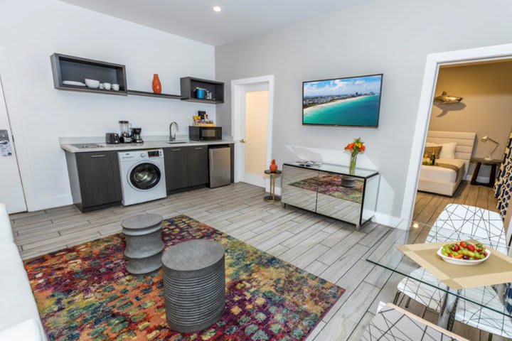
[[363, 202], [363, 180], [356, 180], [356, 186], [353, 188], [342, 187], [341, 177], [336, 175], [324, 175], [305, 180], [290, 183], [291, 186], [303, 188], [304, 190], [312, 190], [318, 193], [331, 195], [338, 199], [349, 200], [353, 202]]

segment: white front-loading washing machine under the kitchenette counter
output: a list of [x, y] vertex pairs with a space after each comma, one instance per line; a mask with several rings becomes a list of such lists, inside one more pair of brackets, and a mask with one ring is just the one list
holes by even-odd
[[121, 171], [122, 205], [166, 197], [164, 151], [122, 151], [117, 155]]

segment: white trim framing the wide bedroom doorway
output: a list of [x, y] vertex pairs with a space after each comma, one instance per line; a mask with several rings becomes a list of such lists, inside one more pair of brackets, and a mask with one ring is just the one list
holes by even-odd
[[422, 151], [427, 139], [427, 129], [430, 123], [430, 112], [437, 82], [437, 73], [440, 65], [471, 63], [486, 60], [499, 60], [512, 58], [512, 44], [486, 46], [443, 53], [427, 55], [425, 75], [418, 107], [415, 134], [412, 138], [412, 150], [405, 183], [404, 201], [402, 205], [402, 219], [412, 220], [418, 181], [420, 180], [420, 165]]

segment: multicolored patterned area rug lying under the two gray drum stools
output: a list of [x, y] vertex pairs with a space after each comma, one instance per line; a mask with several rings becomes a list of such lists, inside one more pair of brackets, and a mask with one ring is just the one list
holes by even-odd
[[304, 340], [343, 292], [332, 283], [180, 215], [164, 220], [167, 247], [215, 239], [226, 250], [226, 310], [197, 333], [166, 327], [161, 271], [127, 274], [124, 237], [25, 261], [50, 340]]

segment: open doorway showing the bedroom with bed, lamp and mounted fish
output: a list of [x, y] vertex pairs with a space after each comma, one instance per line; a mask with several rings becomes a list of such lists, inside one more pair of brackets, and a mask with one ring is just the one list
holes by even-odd
[[494, 195], [512, 129], [512, 60], [439, 67], [412, 220], [432, 225], [447, 205], [498, 211]]

